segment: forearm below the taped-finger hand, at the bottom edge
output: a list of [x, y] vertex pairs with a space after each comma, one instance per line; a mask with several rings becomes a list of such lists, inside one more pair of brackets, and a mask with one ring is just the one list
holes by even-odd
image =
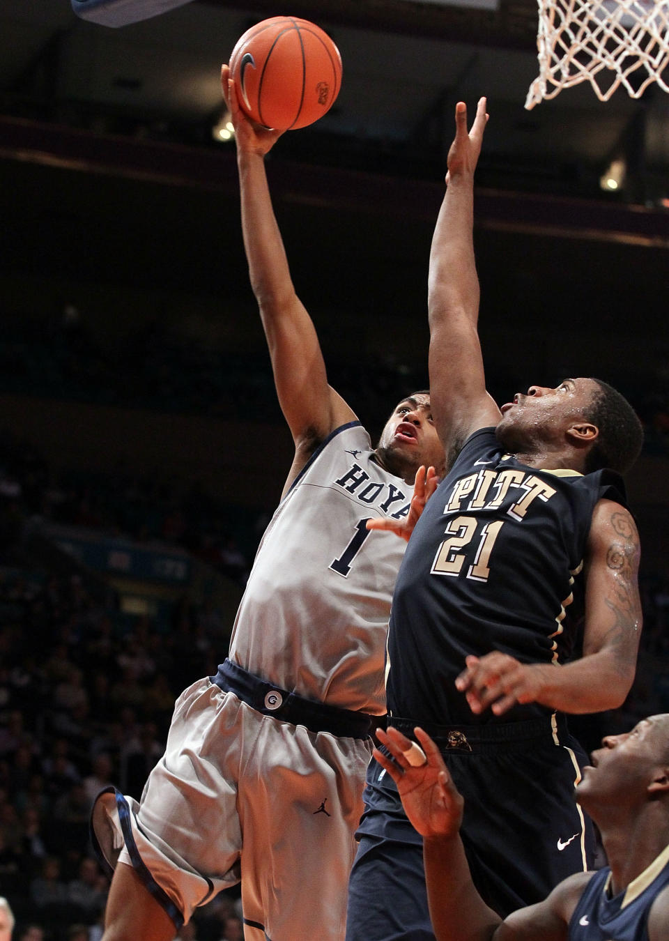
[[476, 891], [460, 837], [425, 838], [422, 856], [437, 941], [490, 941], [502, 919]]

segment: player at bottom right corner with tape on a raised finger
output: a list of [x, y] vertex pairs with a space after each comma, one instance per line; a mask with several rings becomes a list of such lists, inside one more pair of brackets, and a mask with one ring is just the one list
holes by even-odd
[[414, 731], [426, 758], [421, 766], [407, 761], [411, 741], [396, 728], [379, 731], [385, 752], [374, 754], [423, 837], [437, 941], [666, 941], [669, 715], [607, 736], [583, 769], [575, 798], [597, 822], [608, 866], [569, 876], [547, 899], [503, 921], [471, 881], [459, 833], [462, 796], [435, 742], [421, 728]]

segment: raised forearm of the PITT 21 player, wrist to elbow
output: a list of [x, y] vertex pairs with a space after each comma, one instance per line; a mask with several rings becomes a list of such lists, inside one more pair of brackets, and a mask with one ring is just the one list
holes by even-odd
[[473, 175], [458, 173], [444, 195], [430, 251], [428, 310], [431, 326], [465, 311], [476, 323], [479, 281], [473, 246]]

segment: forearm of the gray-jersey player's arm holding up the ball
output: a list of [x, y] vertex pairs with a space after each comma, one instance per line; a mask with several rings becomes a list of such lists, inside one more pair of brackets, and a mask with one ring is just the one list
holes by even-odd
[[267, 183], [263, 156], [238, 152], [242, 233], [248, 274], [261, 310], [285, 306], [295, 294], [288, 259]]

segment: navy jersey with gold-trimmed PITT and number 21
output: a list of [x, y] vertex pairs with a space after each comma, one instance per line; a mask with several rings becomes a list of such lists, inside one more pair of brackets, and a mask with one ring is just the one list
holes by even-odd
[[494, 428], [466, 441], [409, 540], [392, 598], [389, 712], [472, 725], [550, 714], [536, 704], [474, 716], [454, 679], [468, 654], [561, 663], [582, 614], [580, 575], [597, 501], [625, 504], [613, 471], [536, 470]]

